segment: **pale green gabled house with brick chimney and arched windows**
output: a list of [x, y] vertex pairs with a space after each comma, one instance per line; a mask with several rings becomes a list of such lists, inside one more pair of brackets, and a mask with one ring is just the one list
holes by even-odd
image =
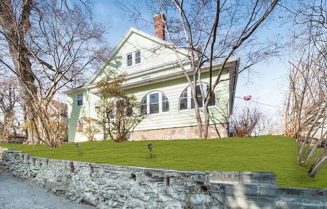
[[[180, 69], [174, 50], [165, 39], [161, 18], [154, 17], [155, 36], [130, 28], [115, 46], [107, 61], [82, 87], [68, 90], [68, 141], [86, 141], [80, 133], [82, 117], [97, 118], [95, 102], [100, 99], [97, 82], [107, 69], [127, 72], [124, 91], [134, 94], [140, 109], [148, 116], [139, 123], [131, 140], [198, 138], [197, 121], [192, 104], [191, 89]], [[161, 26], [160, 26], [161, 25]], [[178, 49], [186, 69], [190, 69], [188, 51]], [[208, 138], [228, 137], [228, 118], [232, 112], [240, 59], [231, 59], [224, 68], [221, 82], [211, 101]], [[219, 69], [221, 63], [215, 63]], [[204, 89], [209, 82], [208, 67], [201, 71]], [[215, 78], [214, 78], [215, 79]], [[104, 133], [96, 139], [104, 138]]]

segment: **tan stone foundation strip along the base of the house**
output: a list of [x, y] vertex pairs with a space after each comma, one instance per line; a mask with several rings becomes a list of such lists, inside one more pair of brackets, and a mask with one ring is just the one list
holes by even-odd
[[[208, 128], [208, 139], [228, 137], [227, 124], [213, 124]], [[132, 134], [133, 141], [140, 140], [171, 140], [198, 139], [198, 126], [138, 130]]]

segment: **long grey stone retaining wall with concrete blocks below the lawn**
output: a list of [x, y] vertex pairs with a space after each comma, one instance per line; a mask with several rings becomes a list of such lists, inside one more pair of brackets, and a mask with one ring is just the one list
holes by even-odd
[[99, 208], [326, 208], [327, 190], [275, 187], [273, 173], [180, 172], [43, 159], [0, 148], [12, 174]]

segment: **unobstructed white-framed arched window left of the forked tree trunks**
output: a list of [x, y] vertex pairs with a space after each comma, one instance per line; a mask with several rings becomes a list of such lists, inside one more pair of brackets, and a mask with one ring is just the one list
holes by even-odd
[[156, 114], [169, 112], [169, 101], [162, 92], [151, 92], [141, 101], [141, 114]]

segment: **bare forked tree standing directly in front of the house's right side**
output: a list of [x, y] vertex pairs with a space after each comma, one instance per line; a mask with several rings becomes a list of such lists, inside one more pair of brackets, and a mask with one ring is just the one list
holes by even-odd
[[[255, 35], [276, 9], [278, 2], [149, 0], [138, 2], [132, 7], [120, 2], [117, 4], [134, 19], [147, 19], [140, 15], [144, 14], [141, 8], [165, 14], [167, 20], [164, 15], [161, 18], [166, 23], [165, 31], [170, 43], [168, 47], [175, 50], [179, 66], [191, 86], [199, 138], [207, 138], [208, 104], [217, 85], [226, 81], [222, 75], [227, 61], [234, 56], [242, 56], [242, 72], [278, 53], [279, 48], [274, 40], [259, 41]], [[179, 57], [179, 48], [189, 51], [191, 73]], [[214, 70], [213, 64], [218, 61], [222, 61], [222, 65]], [[209, 88], [206, 92], [201, 85], [203, 66], [209, 68]], [[204, 101], [204, 118], [200, 114], [199, 102], [202, 101], [198, 99], [197, 86]]]

